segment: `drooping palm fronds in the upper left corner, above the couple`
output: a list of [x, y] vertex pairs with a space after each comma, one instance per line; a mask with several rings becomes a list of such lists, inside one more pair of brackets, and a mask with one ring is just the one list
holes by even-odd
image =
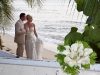
[[0, 28], [9, 28], [14, 20], [13, 0], [0, 0]]

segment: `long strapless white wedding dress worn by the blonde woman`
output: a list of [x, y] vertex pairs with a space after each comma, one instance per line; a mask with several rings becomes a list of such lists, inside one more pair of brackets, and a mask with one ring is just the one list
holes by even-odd
[[42, 59], [43, 43], [39, 38], [34, 37], [34, 27], [31, 27], [26, 32], [25, 49], [27, 59], [36, 60]]

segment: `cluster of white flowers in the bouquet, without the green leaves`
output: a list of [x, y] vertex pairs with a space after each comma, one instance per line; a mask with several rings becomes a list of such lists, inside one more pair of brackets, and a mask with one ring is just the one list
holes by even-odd
[[70, 67], [79, 66], [81, 64], [90, 64], [89, 54], [93, 52], [91, 48], [85, 48], [83, 44], [72, 44], [70, 46], [65, 46], [66, 50], [63, 51], [63, 54], [66, 55], [64, 62], [67, 63]]

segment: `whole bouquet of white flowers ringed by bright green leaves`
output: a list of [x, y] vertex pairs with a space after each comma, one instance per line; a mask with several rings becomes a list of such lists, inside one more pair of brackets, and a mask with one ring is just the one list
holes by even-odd
[[76, 42], [69, 45], [59, 45], [59, 53], [56, 56], [62, 70], [69, 75], [78, 75], [79, 69], [90, 69], [95, 64], [97, 57], [87, 42]]

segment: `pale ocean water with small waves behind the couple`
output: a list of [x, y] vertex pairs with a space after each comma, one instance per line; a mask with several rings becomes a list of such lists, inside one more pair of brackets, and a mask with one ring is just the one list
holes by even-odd
[[83, 32], [87, 19], [82, 12], [77, 12], [75, 9], [76, 4], [73, 0], [68, 8], [68, 1], [46, 0], [40, 9], [28, 7], [23, 0], [15, 0], [13, 3], [15, 21], [12, 28], [6, 33], [14, 36], [15, 22], [19, 19], [19, 14], [24, 12], [33, 16], [33, 23], [36, 25], [39, 38], [45, 42], [63, 43], [63, 39], [70, 32], [71, 27], [78, 27], [78, 31]]

